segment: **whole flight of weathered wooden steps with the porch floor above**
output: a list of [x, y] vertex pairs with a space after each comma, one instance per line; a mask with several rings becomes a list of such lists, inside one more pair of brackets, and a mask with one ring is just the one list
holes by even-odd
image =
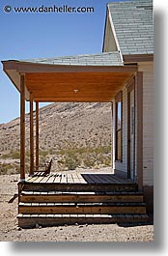
[[[83, 177], [73, 173], [35, 176], [33, 183], [24, 182], [19, 196], [18, 225], [144, 222], [147, 219], [143, 217], [146, 204], [143, 194], [137, 192], [137, 185], [124, 184], [122, 179], [122, 184], [115, 184], [115, 176], [112, 176], [111, 184], [107, 184], [111, 175], [89, 174], [87, 177], [90, 184], [81, 183]], [[104, 184], [100, 184], [101, 179]]]

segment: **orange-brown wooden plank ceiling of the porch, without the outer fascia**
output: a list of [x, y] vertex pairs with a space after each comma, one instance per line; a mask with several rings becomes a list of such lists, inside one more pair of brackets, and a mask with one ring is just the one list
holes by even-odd
[[130, 73], [27, 73], [25, 84], [37, 101], [111, 101]]

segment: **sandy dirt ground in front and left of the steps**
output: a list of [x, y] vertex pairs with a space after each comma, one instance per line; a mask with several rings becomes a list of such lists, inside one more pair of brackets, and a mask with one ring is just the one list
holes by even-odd
[[154, 242], [154, 225], [117, 224], [56, 226], [20, 229], [17, 226], [19, 175], [0, 176], [1, 242]]

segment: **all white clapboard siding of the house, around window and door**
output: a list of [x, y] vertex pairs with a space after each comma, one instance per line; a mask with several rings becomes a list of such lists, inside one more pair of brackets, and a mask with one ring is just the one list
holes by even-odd
[[[139, 63], [143, 71], [143, 185], [154, 185], [154, 64]], [[135, 91], [135, 99], [137, 92]], [[115, 113], [115, 101], [113, 103]], [[114, 115], [115, 116], [115, 115]], [[135, 102], [135, 175], [137, 174], [137, 108]], [[115, 130], [115, 120], [113, 122]], [[113, 148], [115, 134], [113, 134]], [[123, 89], [123, 161], [115, 161], [116, 170], [127, 172], [127, 89]]]

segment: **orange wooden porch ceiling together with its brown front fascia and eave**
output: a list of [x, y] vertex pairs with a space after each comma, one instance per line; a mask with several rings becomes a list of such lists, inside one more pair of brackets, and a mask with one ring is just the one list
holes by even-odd
[[136, 66], [82, 67], [3, 63], [4, 71], [20, 91], [20, 73], [25, 74], [26, 99], [35, 101], [109, 102], [137, 71]]

